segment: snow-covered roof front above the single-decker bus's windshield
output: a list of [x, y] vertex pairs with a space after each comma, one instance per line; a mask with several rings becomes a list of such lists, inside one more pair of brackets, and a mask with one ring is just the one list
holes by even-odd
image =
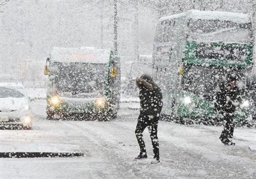
[[110, 49], [95, 49], [93, 47], [53, 47], [51, 51], [51, 61], [64, 63], [108, 63], [110, 54]]

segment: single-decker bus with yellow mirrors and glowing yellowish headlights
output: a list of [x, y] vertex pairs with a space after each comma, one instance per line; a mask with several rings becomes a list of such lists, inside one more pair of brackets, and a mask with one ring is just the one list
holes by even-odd
[[120, 58], [110, 49], [54, 47], [46, 63], [47, 119], [116, 117], [120, 102]]

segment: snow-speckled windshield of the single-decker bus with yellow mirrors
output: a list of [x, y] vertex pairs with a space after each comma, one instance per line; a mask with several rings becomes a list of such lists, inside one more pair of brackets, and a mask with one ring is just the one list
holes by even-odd
[[92, 93], [104, 90], [106, 64], [54, 62], [50, 72], [55, 88], [61, 92]]

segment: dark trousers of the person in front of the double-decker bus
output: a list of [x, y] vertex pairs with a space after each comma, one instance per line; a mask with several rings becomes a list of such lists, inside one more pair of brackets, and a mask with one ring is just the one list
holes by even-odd
[[221, 132], [220, 140], [223, 144], [228, 144], [232, 142], [233, 134], [234, 134], [234, 123], [233, 123], [233, 113], [225, 113], [224, 120], [226, 121], [224, 125], [224, 129]]

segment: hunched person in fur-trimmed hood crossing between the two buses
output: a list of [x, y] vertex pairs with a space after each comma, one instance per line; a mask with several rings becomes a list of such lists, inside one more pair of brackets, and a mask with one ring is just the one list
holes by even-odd
[[149, 75], [141, 75], [136, 79], [136, 84], [140, 88], [140, 116], [136, 126], [135, 134], [140, 145], [140, 155], [135, 159], [147, 158], [145, 143], [143, 141], [143, 131], [146, 127], [150, 130], [152, 140], [154, 162], [159, 162], [159, 142], [157, 137], [157, 125], [161, 109], [163, 106], [161, 89], [154, 83]]

